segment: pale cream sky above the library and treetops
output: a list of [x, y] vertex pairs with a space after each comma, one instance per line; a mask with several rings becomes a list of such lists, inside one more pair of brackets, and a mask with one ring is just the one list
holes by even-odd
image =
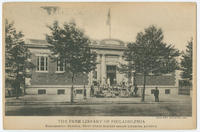
[[[49, 14], [46, 7], [56, 7]], [[196, 7], [192, 3], [15, 3], [4, 5], [4, 19], [14, 21], [25, 39], [45, 39], [47, 25], [75, 21], [93, 40], [109, 38], [106, 24], [111, 14], [111, 38], [134, 42], [138, 32], [150, 25], [163, 30], [164, 41], [185, 50], [187, 41], [195, 39]]]

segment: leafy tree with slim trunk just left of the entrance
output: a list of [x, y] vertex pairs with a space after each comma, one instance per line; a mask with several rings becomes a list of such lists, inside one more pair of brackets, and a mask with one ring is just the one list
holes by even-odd
[[74, 78], [79, 74], [87, 74], [96, 68], [96, 53], [92, 52], [89, 38], [75, 23], [65, 23], [63, 28], [55, 21], [46, 40], [50, 44], [52, 60], [61, 59], [68, 73], [71, 73], [71, 103], [73, 103]]

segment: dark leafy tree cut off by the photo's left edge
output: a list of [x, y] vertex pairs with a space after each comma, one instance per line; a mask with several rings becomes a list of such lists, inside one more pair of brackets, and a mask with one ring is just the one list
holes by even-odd
[[31, 74], [27, 69], [34, 68], [30, 62], [31, 53], [25, 46], [22, 32], [17, 32], [14, 23], [5, 22], [5, 72], [6, 87], [15, 89], [16, 98], [19, 96], [20, 87], [24, 87], [25, 78], [30, 78]]

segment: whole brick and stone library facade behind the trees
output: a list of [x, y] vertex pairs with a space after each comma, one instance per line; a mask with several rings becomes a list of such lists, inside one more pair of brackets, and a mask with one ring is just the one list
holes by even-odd
[[[56, 95], [63, 96], [64, 101], [70, 101], [71, 92], [74, 93], [75, 99], [82, 99], [84, 96], [91, 97], [91, 86], [94, 89], [99, 89], [101, 86], [113, 87], [122, 83], [128, 87], [132, 86], [133, 80], [117, 70], [120, 63], [126, 63], [122, 57], [126, 44], [120, 40], [105, 39], [92, 42], [90, 47], [97, 53], [96, 69], [89, 74], [77, 76], [74, 91], [71, 91], [71, 76], [65, 72], [63, 62], [53, 62], [50, 59], [51, 52], [46, 41], [29, 39], [26, 45], [32, 53], [31, 61], [36, 66], [29, 71], [32, 78], [26, 79], [26, 94], [28, 95]], [[178, 72], [160, 76], [150, 75], [146, 79], [146, 94], [152, 94], [157, 86], [160, 94], [176, 95], [178, 94], [178, 79]], [[135, 83], [139, 87], [138, 94], [140, 95], [143, 87], [142, 75], [136, 75]]]

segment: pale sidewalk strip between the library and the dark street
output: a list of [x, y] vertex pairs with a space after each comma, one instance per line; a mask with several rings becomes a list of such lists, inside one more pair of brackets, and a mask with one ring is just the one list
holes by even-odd
[[[6, 105], [23, 105], [23, 104], [60, 104], [69, 105], [70, 102], [64, 100], [65, 96], [31, 96], [26, 95], [16, 99], [15, 97], [6, 98]], [[45, 101], [44, 101], [45, 100]], [[75, 105], [89, 105], [89, 104], [158, 104], [158, 103], [191, 103], [192, 99], [190, 96], [177, 95], [177, 96], [161, 96], [160, 102], [154, 101], [154, 96], [146, 95], [145, 101], [141, 102], [141, 97], [115, 97], [115, 98], [96, 98], [91, 97], [87, 99], [75, 99]]]

